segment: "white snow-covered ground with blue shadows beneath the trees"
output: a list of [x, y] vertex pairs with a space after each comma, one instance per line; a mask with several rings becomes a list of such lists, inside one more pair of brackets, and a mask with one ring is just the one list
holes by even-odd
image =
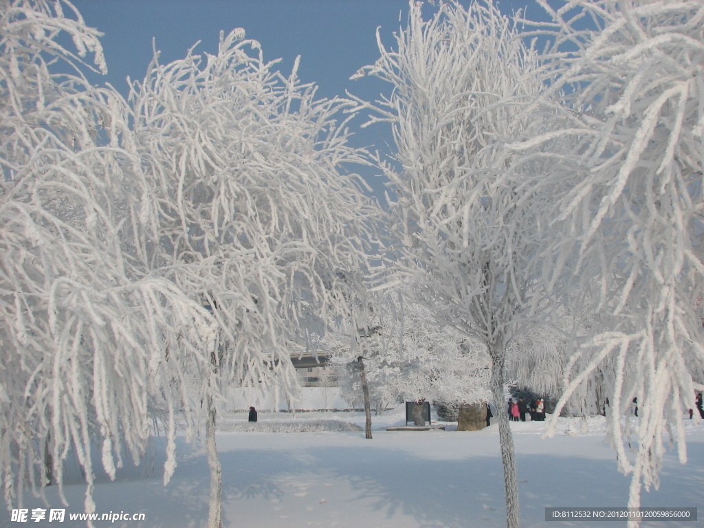
[[[362, 413], [260, 414], [260, 429], [287, 420], [337, 419], [363, 425]], [[387, 432], [404, 425], [401, 408], [374, 417], [374, 438], [363, 432], [222, 432], [223, 521], [230, 528], [299, 527], [503, 527], [505, 506], [498, 426], [480, 432]], [[544, 422], [513, 423], [520, 479], [523, 527], [602, 528], [624, 522], [546, 522], [546, 507], [623, 507], [630, 479], [617, 472], [615, 453], [604, 442], [602, 417], [560, 419], [558, 434], [543, 439]], [[632, 419], [636, 420], [636, 419]], [[225, 420], [244, 425], [244, 414]], [[570, 425], [572, 424], [572, 425]], [[670, 451], [660, 489], [644, 492], [643, 506], [696, 507], [698, 522], [643, 522], [642, 527], [702, 526], [704, 517], [704, 424], [686, 422], [689, 461], [681, 465]], [[163, 486], [163, 442], [158, 439], [142, 467], [101, 477], [95, 500], [99, 513], [144, 513], [144, 521], [96, 521], [100, 527], [204, 527], [210, 476], [203, 446], [179, 443], [179, 463]], [[1, 527], [73, 527], [83, 512], [84, 486], [65, 486], [70, 502], [64, 522], [12, 522], [0, 513]], [[26, 508], [61, 508], [56, 489], [49, 505], [28, 496]]]

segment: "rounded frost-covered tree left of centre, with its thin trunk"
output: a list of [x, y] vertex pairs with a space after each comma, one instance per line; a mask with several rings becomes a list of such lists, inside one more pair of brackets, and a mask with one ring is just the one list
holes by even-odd
[[[150, 230], [135, 251], [218, 320], [218, 348], [201, 384], [213, 470], [210, 526], [220, 525], [216, 386], [296, 387], [291, 348], [317, 321], [347, 313], [365, 272], [374, 204], [349, 173], [344, 99], [266, 62], [243, 30], [220, 34], [218, 54], [168, 65], [155, 56], [130, 94], [136, 155], [149, 201], [134, 210]], [[141, 252], [139, 252], [141, 251]]]

